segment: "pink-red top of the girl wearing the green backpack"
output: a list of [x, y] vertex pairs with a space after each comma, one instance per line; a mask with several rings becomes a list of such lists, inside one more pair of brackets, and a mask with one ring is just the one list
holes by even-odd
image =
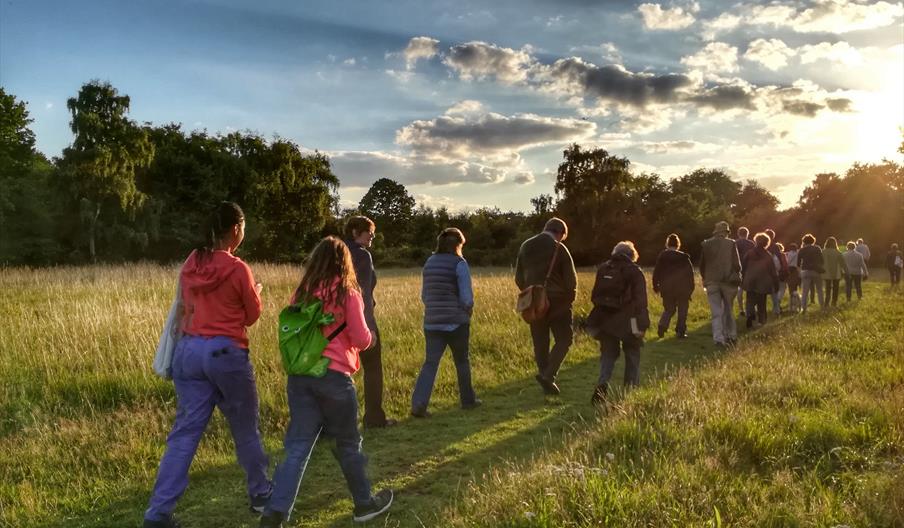
[[[322, 299], [322, 291], [316, 292], [314, 296]], [[291, 302], [295, 303], [295, 299], [293, 298]], [[322, 328], [324, 336], [329, 336], [343, 321], [346, 324], [345, 329], [323, 350], [323, 356], [330, 358], [327, 368], [343, 374], [354, 374], [361, 368], [358, 353], [367, 350], [371, 342], [370, 330], [364, 322], [364, 300], [361, 293], [354, 290], [348, 292], [341, 304], [324, 303], [323, 312], [331, 313], [336, 318], [333, 324]]]

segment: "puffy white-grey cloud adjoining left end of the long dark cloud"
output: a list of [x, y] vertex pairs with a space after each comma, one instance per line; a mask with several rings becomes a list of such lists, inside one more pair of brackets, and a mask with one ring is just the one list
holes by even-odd
[[528, 77], [534, 62], [529, 51], [472, 41], [453, 46], [443, 62], [466, 81], [497, 79], [515, 84]]

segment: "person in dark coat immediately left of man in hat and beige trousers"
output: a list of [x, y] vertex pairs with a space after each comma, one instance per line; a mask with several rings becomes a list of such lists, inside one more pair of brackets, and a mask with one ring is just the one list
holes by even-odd
[[660, 338], [665, 336], [677, 310], [675, 334], [684, 338], [687, 337], [687, 309], [694, 292], [694, 265], [687, 253], [679, 251], [681, 239], [678, 235], [669, 235], [665, 246], [665, 250], [656, 257], [656, 267], [653, 268], [653, 291], [662, 296], [663, 307], [658, 334]]

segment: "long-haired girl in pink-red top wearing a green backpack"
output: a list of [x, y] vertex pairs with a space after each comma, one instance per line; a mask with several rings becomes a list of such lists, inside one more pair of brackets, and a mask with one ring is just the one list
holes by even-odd
[[334, 453], [355, 503], [354, 520], [370, 520], [392, 504], [392, 490], [372, 495], [364, 472], [358, 397], [351, 375], [361, 367], [358, 354], [370, 346], [371, 333], [364, 320], [364, 301], [351, 254], [338, 238], [321, 240], [311, 252], [292, 303], [315, 299], [323, 303], [324, 313], [335, 317], [334, 323], [323, 327], [324, 336], [343, 323], [345, 328], [323, 351], [330, 359], [325, 376], [289, 376], [285, 460], [273, 474], [273, 495], [261, 517], [262, 527], [281, 527], [289, 519], [301, 477], [321, 433], [336, 440]]

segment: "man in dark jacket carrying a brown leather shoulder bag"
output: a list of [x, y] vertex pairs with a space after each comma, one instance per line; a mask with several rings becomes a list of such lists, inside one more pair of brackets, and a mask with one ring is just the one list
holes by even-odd
[[[515, 265], [515, 283], [519, 290], [546, 284], [549, 311], [540, 321], [531, 323], [530, 334], [537, 363], [537, 382], [546, 394], [558, 394], [556, 376], [574, 338], [572, 311], [578, 276], [565, 244], [568, 226], [560, 218], [546, 222], [543, 232], [521, 244]], [[550, 350], [549, 333], [555, 338]]]

